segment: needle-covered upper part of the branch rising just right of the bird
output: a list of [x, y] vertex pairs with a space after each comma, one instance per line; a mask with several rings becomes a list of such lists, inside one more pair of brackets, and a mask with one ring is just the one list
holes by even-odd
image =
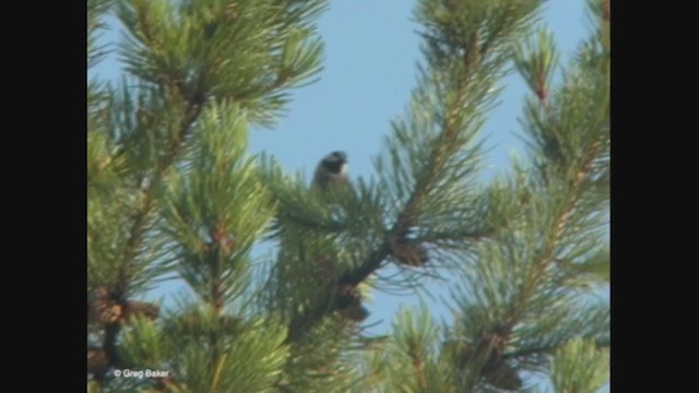
[[540, 1], [422, 1], [425, 26], [418, 86], [406, 119], [392, 122], [387, 155], [377, 162], [380, 190], [395, 206], [401, 233], [446, 246], [490, 231], [475, 180], [482, 158], [476, 135], [493, 108], [510, 41], [536, 20]]

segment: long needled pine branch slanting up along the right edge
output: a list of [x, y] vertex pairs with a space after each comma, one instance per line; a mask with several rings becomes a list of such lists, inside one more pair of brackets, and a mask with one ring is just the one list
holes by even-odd
[[[546, 57], [542, 55], [534, 60], [541, 58]], [[587, 60], [592, 63], [590, 59]], [[520, 61], [528, 69], [536, 69], [531, 58], [521, 58]], [[532, 71], [530, 75], [547, 74], [541, 67], [538, 71]], [[516, 183], [526, 184], [521, 190], [541, 196], [523, 214], [503, 210], [502, 214], [508, 213], [512, 218], [519, 216], [521, 221], [509, 219], [514, 225], [507, 226], [502, 238], [494, 239], [493, 249], [484, 245], [486, 248], [481, 258], [489, 255], [496, 261], [491, 264], [476, 262], [476, 266], [481, 269], [477, 273], [481, 274], [473, 274], [471, 277], [474, 298], [484, 303], [464, 305], [466, 324], [470, 324], [467, 335], [476, 343], [488, 336], [498, 336], [501, 345], [488, 345], [488, 350], [495, 348], [496, 356], [484, 353], [487, 367], [481, 369], [478, 365], [471, 365], [466, 372], [474, 372], [496, 386], [498, 381], [493, 377], [501, 379], [500, 377], [509, 376], [512, 377], [511, 381], [516, 381], [518, 369], [528, 367], [525, 364], [531, 360], [526, 358], [538, 359], [533, 362], [536, 365], [545, 358], [544, 355], [550, 355], [557, 349], [562, 338], [579, 334], [574, 327], [562, 329], [562, 334], [552, 333], [559, 329], [555, 323], [556, 317], [547, 318], [546, 323], [537, 321], [526, 325], [526, 319], [536, 319], [536, 313], [546, 311], [546, 305], [553, 306], [561, 315], [569, 312], [556, 298], [561, 293], [568, 293], [566, 279], [569, 279], [570, 272], [574, 274], [576, 271], [566, 271], [565, 266], [557, 264], [560, 263], [558, 261], [561, 253], [569, 254], [571, 260], [585, 258], [585, 251], [577, 243], [592, 242], [578, 237], [578, 234], [582, 236], [588, 230], [579, 229], [578, 225], [584, 227], [588, 223], [594, 223], [585, 221], [585, 217], [597, 212], [599, 203], [602, 202], [600, 198], [603, 196], [595, 194], [597, 190], [590, 186], [595, 186], [595, 164], [607, 138], [600, 135], [602, 130], [597, 129], [601, 127], [597, 122], [602, 121], [604, 108], [596, 108], [597, 105], [605, 105], [601, 94], [606, 91], [600, 84], [604, 80], [590, 71], [585, 73], [584, 69], [576, 71], [580, 73], [571, 73], [570, 81], [566, 81], [554, 103], [546, 103], [541, 99], [541, 95], [537, 95], [538, 100], [528, 102], [528, 120], [533, 134], [534, 153], [537, 153], [534, 160], [540, 171], [535, 172], [533, 179]], [[589, 79], [584, 79], [585, 76]], [[536, 90], [541, 85], [538, 82], [530, 83], [535, 94], [540, 93]], [[513, 193], [517, 194], [517, 191], [514, 189]], [[505, 203], [511, 201], [511, 198], [503, 199]], [[508, 271], [509, 269], [512, 271]], [[481, 284], [479, 281], [486, 283]], [[507, 308], [500, 311], [499, 306]], [[520, 324], [524, 324], [522, 329]], [[594, 321], [592, 325], [602, 325], [602, 321]], [[529, 338], [530, 343], [522, 342], [523, 338]], [[506, 343], [510, 341], [510, 344], [520, 348], [505, 352]], [[524, 362], [520, 362], [520, 359]], [[498, 371], [499, 377], [490, 374], [494, 371]]]

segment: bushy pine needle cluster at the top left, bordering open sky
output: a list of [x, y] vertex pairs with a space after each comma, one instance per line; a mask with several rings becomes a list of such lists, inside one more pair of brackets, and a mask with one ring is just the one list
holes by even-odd
[[252, 121], [271, 124], [288, 102], [286, 90], [320, 71], [322, 45], [310, 22], [324, 4], [121, 1], [130, 34], [122, 59], [145, 82], [176, 86], [194, 100], [236, 102]]

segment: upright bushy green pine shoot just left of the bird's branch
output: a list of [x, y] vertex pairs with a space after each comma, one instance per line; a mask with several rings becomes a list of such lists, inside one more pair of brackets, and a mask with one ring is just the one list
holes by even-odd
[[274, 214], [254, 159], [245, 156], [244, 119], [235, 107], [209, 107], [191, 141], [197, 148], [188, 170], [166, 182], [164, 233], [180, 276], [220, 307], [248, 285], [250, 249]]

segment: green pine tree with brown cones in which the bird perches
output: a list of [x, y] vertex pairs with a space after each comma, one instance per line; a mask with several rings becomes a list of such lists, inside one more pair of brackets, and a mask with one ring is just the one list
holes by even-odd
[[[609, 4], [589, 1], [594, 34], [557, 82], [543, 3], [419, 0], [418, 84], [377, 177], [319, 191], [247, 142], [321, 71], [327, 1], [88, 0], [88, 67], [114, 12], [129, 75], [87, 86], [88, 391], [604, 385]], [[511, 69], [531, 88], [526, 156], [484, 183], [478, 132]], [[425, 306], [365, 332], [371, 290], [435, 274], [458, 277], [452, 321]], [[142, 300], [173, 278], [192, 296]], [[146, 370], [167, 374], [121, 378]]]

